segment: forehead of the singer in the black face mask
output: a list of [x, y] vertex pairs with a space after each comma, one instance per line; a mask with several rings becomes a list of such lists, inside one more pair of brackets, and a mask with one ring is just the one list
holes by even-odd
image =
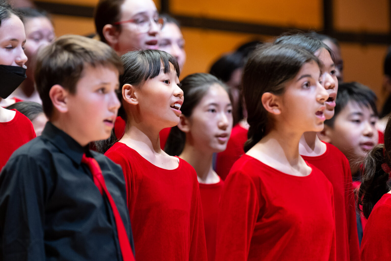
[[10, 18], [1, 21], [0, 38], [2, 41], [7, 39], [17, 39], [24, 41], [26, 39], [22, 20], [12, 14]]

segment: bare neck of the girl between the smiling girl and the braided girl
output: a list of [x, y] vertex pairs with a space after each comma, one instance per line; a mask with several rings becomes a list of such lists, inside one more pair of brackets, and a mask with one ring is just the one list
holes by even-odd
[[213, 152], [200, 151], [186, 142], [179, 158], [182, 158], [194, 167], [199, 183], [215, 184], [220, 181], [219, 176], [212, 168]]

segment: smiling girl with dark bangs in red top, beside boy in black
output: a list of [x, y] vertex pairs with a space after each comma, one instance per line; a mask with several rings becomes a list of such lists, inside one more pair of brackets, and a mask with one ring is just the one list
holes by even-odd
[[121, 59], [118, 115], [126, 121], [125, 133], [98, 147], [115, 142], [105, 155], [124, 172], [135, 256], [206, 260], [197, 175], [190, 164], [160, 148], [159, 132], [176, 126], [181, 114], [178, 62], [160, 50], [128, 52]]

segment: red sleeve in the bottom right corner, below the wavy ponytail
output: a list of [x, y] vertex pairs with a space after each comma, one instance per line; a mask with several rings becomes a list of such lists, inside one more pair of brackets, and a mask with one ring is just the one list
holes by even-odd
[[361, 241], [361, 261], [391, 260], [390, 216], [389, 205], [374, 208], [371, 212]]

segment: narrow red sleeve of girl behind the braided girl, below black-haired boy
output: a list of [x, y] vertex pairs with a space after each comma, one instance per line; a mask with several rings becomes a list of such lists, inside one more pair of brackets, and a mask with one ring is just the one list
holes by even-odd
[[344, 157], [344, 178], [345, 178], [345, 197], [346, 224], [348, 227], [349, 256], [350, 261], [360, 261], [359, 236], [357, 235], [356, 207], [354, 199], [354, 189], [352, 173], [350, 172], [349, 161]]

